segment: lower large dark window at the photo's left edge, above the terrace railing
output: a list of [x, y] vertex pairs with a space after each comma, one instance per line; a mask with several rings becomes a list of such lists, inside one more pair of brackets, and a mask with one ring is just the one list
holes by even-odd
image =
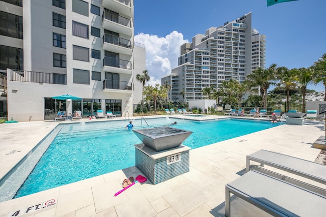
[[23, 49], [0, 45], [0, 69], [23, 70]]

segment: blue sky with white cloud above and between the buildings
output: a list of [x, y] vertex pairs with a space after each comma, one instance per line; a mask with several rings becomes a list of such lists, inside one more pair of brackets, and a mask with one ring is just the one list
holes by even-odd
[[[298, 0], [267, 7], [266, 0], [135, 0], [134, 41], [146, 46], [147, 84], [178, 66], [180, 45], [252, 12], [252, 27], [266, 38], [266, 67], [310, 67], [326, 53], [326, 1]], [[323, 91], [322, 84], [309, 89]]]

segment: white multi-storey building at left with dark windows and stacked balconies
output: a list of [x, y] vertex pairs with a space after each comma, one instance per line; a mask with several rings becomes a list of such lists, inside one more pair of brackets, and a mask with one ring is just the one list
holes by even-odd
[[[133, 0], [4, 0], [0, 13], [8, 119], [54, 119], [60, 110], [132, 116], [142, 88], [135, 74], [145, 69], [145, 45], [133, 41]], [[82, 99], [52, 99], [66, 94]]]

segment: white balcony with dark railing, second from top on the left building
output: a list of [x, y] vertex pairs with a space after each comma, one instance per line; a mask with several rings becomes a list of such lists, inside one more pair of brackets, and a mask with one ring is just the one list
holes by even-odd
[[130, 37], [132, 36], [131, 20], [112, 13], [109, 10], [104, 10], [102, 27], [105, 29], [110, 29], [116, 33], [121, 33]]

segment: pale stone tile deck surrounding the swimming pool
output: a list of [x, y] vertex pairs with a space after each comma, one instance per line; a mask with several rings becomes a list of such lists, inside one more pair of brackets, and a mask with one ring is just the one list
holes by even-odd
[[[0, 125], [0, 177], [62, 122], [71, 121]], [[248, 154], [266, 149], [315, 161], [320, 150], [313, 148], [312, 143], [325, 134], [322, 128], [323, 123], [318, 121], [303, 126], [282, 125], [192, 149], [189, 152], [190, 171], [165, 182], [135, 183], [114, 197], [121, 190], [123, 179], [141, 174], [136, 167], [130, 167], [2, 202], [0, 217], [18, 210], [22, 214], [26, 208], [33, 209], [50, 199], [56, 199], [56, 205], [19, 216], [225, 216], [225, 185], [243, 174]], [[231, 202], [231, 213], [233, 216], [269, 216], [238, 198]]]

